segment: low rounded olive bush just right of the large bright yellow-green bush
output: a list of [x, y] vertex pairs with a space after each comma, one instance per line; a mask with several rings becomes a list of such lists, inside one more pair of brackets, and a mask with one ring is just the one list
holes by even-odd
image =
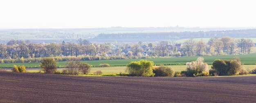
[[165, 67], [165, 66], [159, 66], [155, 67], [153, 69], [153, 73], [155, 73], [155, 77], [173, 77], [174, 76], [174, 71], [170, 67]]

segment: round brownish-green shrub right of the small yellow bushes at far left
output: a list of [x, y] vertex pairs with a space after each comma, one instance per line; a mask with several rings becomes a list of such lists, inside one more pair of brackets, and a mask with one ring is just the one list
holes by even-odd
[[53, 74], [57, 70], [57, 62], [54, 58], [44, 58], [39, 66], [45, 73]]

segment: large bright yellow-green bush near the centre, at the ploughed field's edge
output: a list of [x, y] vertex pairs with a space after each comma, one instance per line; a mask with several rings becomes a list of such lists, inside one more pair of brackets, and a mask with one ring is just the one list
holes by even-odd
[[149, 77], [154, 76], [153, 73], [153, 64], [152, 61], [147, 60], [139, 60], [137, 62], [130, 62], [126, 65], [126, 71], [129, 73], [130, 76], [142, 76], [142, 77]]

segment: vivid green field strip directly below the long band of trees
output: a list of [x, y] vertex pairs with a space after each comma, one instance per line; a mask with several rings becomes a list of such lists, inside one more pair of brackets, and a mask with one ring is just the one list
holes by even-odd
[[[240, 57], [241, 62], [246, 65], [254, 65], [256, 63], [256, 54], [247, 54], [247, 55], [226, 55], [226, 56], [202, 56], [208, 64], [212, 64], [215, 59], [230, 59], [235, 56]], [[194, 61], [198, 56], [192, 57], [173, 57], [173, 58], [152, 58], [146, 59], [153, 61], [154, 64], [171, 64], [171, 65], [184, 65], [186, 62]], [[127, 59], [127, 60], [94, 60], [94, 61], [82, 61], [87, 62], [93, 66], [98, 66], [99, 64], [110, 64], [111, 66], [125, 66], [131, 61], [138, 61], [141, 59]], [[38, 68], [40, 63], [5, 63], [0, 64], [2, 68], [12, 68], [13, 65], [24, 65], [27, 68]], [[58, 62], [58, 67], [64, 67], [66, 62]]]

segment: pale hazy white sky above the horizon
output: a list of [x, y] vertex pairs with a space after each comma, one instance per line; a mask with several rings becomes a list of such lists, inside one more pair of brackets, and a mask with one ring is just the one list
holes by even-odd
[[256, 27], [255, 0], [1, 0], [0, 28]]

